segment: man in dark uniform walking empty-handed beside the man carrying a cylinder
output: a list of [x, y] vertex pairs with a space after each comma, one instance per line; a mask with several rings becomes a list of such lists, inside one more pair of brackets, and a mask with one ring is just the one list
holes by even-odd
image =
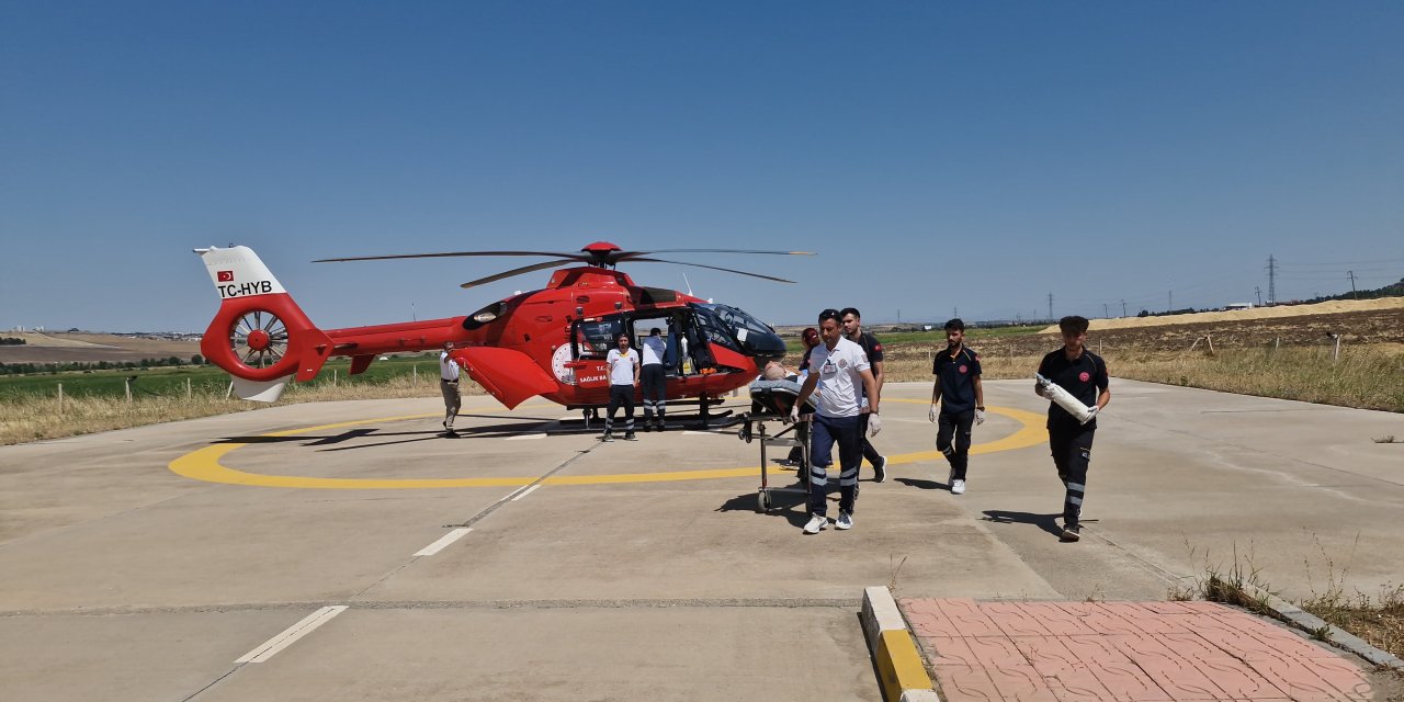
[[[927, 417], [936, 423], [936, 448], [951, 463], [951, 476], [946, 479], [951, 494], [962, 494], [966, 466], [970, 463], [970, 427], [984, 424], [980, 354], [965, 345], [965, 322], [946, 322], [946, 350], [936, 354], [931, 375], [936, 376], [936, 382], [931, 388], [931, 411]], [[939, 413], [936, 403], [941, 403]]]

